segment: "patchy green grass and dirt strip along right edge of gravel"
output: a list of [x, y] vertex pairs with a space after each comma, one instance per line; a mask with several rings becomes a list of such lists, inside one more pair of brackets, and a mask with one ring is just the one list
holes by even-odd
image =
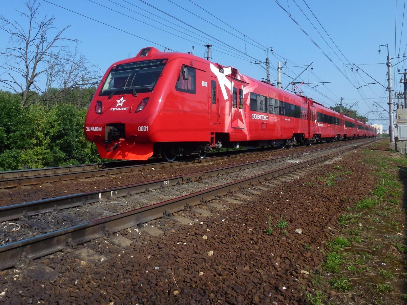
[[[328, 229], [322, 264], [308, 270], [303, 281], [308, 304], [407, 301], [407, 158], [389, 151], [383, 140], [363, 149], [358, 159], [368, 189], [359, 199], [345, 195], [346, 210]], [[335, 178], [345, 167], [338, 165], [326, 175]], [[347, 168], [353, 174], [360, 171], [350, 164]]]

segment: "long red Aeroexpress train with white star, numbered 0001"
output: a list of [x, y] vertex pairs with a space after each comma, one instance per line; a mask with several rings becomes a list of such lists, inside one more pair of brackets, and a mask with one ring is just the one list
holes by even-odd
[[85, 120], [102, 158], [376, 137], [371, 126], [200, 57], [149, 47], [114, 63]]

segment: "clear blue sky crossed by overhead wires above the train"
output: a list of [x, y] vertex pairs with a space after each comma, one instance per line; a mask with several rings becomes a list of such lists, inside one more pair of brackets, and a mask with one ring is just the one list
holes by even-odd
[[[313, 62], [313, 72], [311, 72], [310, 67], [309, 71], [305, 71], [300, 76], [300, 79], [309, 83], [319, 82], [320, 80], [331, 83], [316, 87], [315, 89], [319, 92], [304, 85], [305, 95], [315, 98], [327, 106], [337, 104], [339, 97], [345, 98], [344, 104], [348, 104], [349, 106], [359, 101], [353, 109], [357, 109], [358, 113], [362, 115], [365, 115], [367, 111], [382, 110], [376, 107], [373, 101], [379, 102], [380, 105], [388, 109], [388, 93], [381, 85], [369, 85], [359, 90], [355, 89], [360, 86], [359, 83], [373, 83], [374, 81], [361, 70], [359, 70], [359, 72], [353, 70], [352, 72], [350, 65], [348, 65], [348, 60], [350, 63], [353, 62], [357, 65], [384, 63], [386, 61], [387, 49], [381, 47], [382, 52], [379, 54], [378, 46], [381, 44], [389, 44], [390, 55], [394, 57], [395, 1], [342, 0], [334, 2], [305, 0], [306, 4], [309, 5], [339, 50], [345, 55], [345, 59], [318, 24], [317, 20], [315, 20], [311, 11], [306, 7], [304, 0], [295, 0], [295, 2], [304, 11], [333, 50], [328, 47], [311, 23], [304, 17], [294, 0], [278, 0], [316, 44], [332, 59], [339, 70], [348, 76], [349, 80], [335, 68], [335, 65], [325, 57], [273, 0], [252, 2], [242, 0], [192, 0], [233, 28], [195, 6], [189, 0], [171, 0], [178, 4], [179, 7], [169, 0], [146, 1], [154, 7], [168, 13], [168, 15], [192, 25], [201, 32], [173, 19], [140, 0], [94, 0], [94, 2], [120, 13], [101, 7], [89, 0], [49, 1], [154, 42], [145, 41], [144, 39], [129, 35], [120, 30], [56, 7], [43, 0], [39, 0], [38, 2], [41, 4], [40, 15], [44, 15], [45, 13], [54, 15], [56, 17], [55, 26], [57, 28], [63, 28], [69, 25], [70, 28], [66, 33], [66, 37], [79, 39], [79, 51], [89, 59], [90, 63], [98, 65], [102, 70], [108, 68], [109, 65], [115, 61], [129, 57], [129, 54], [133, 56], [136, 55], [137, 52], [145, 46], [154, 46], [160, 50], [164, 50], [162, 46], [166, 46], [179, 52], [188, 52], [191, 50], [191, 47], [194, 46], [194, 54], [203, 56], [205, 51], [203, 45], [213, 44], [212, 61], [223, 65], [231, 65], [238, 68], [239, 72], [254, 78], [262, 78], [265, 77], [265, 71], [258, 65], [251, 65], [250, 61], [254, 61], [255, 59], [264, 61], [264, 47], [273, 47], [274, 52], [278, 55], [269, 55], [271, 62], [271, 80], [277, 77], [275, 67], [279, 59], [282, 61], [283, 67], [284, 59], [288, 60], [287, 66], [308, 65]], [[123, 7], [120, 7], [118, 4]], [[399, 48], [400, 56], [403, 56], [403, 53], [406, 52], [405, 47], [407, 41], [407, 30], [401, 33], [404, 2], [399, 0], [397, 4], [396, 56], [399, 52]], [[182, 8], [195, 13], [202, 19]], [[15, 10], [24, 11], [24, 9], [24, 2], [21, 0], [7, 1], [2, 3], [1, 13], [9, 20], [21, 20], [20, 14]], [[158, 15], [158, 17], [152, 14]], [[143, 15], [175, 29], [159, 24]], [[143, 24], [132, 18], [146, 22], [147, 24]], [[219, 28], [207, 21], [219, 26]], [[153, 28], [152, 26], [157, 28]], [[403, 27], [405, 26], [403, 25]], [[160, 29], [165, 29], [170, 33], [185, 37], [192, 42], [165, 33]], [[186, 36], [185, 33], [192, 37]], [[214, 38], [208, 37], [207, 34]], [[0, 48], [6, 47], [8, 45], [8, 36], [0, 32], [0, 41]], [[228, 46], [225, 46], [225, 44]], [[231, 50], [231, 47], [235, 49]], [[227, 54], [223, 54], [219, 51]], [[255, 59], [250, 59], [239, 51], [247, 53]], [[339, 55], [340, 59], [333, 51]], [[235, 56], [245, 59], [236, 58]], [[397, 61], [397, 59], [393, 60], [393, 63]], [[407, 60], [401, 63], [398, 69], [407, 68], [406, 62]], [[387, 87], [387, 67], [385, 64], [361, 65], [360, 67]], [[303, 68], [300, 67], [283, 68], [282, 72], [291, 77], [295, 77], [302, 69]], [[394, 72], [396, 72], [396, 75], [394, 75]], [[283, 75], [282, 77], [284, 87], [292, 81], [289, 76]], [[397, 70], [393, 70], [393, 80], [394, 89], [400, 91], [400, 76], [397, 74]], [[387, 112], [367, 114], [371, 120], [370, 122], [383, 124], [383, 129], [387, 129], [385, 126], [388, 126], [388, 120], [377, 120], [380, 119], [379, 115], [388, 119]]]

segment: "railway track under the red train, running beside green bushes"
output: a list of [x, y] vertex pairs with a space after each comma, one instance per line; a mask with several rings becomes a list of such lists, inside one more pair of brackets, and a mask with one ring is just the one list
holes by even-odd
[[121, 174], [137, 172], [146, 169], [165, 168], [171, 166], [186, 165], [190, 163], [204, 163], [219, 159], [242, 157], [247, 155], [258, 155], [267, 153], [278, 148], [256, 148], [237, 150], [234, 152], [216, 152], [208, 154], [205, 158], [184, 158], [173, 162], [162, 161], [162, 159], [149, 159], [146, 161], [113, 161], [92, 163], [84, 165], [60, 166], [50, 168], [39, 168], [29, 170], [12, 170], [0, 172], [0, 189], [18, 187], [33, 184], [53, 183], [57, 181], [68, 181], [74, 179], [86, 179], [109, 174]]

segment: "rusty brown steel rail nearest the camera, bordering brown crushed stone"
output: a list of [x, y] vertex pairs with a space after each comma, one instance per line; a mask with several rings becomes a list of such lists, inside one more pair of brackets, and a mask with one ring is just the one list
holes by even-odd
[[67, 246], [72, 247], [74, 245], [83, 244], [84, 242], [88, 242], [103, 235], [110, 236], [112, 233], [133, 227], [136, 224], [142, 224], [161, 218], [164, 214], [168, 214], [168, 212], [175, 213], [183, 210], [184, 207], [192, 207], [226, 194], [232, 194], [234, 191], [237, 191], [242, 187], [252, 185], [252, 183], [267, 181], [280, 174], [285, 174], [324, 161], [330, 157], [334, 157], [369, 143], [371, 142], [364, 142], [328, 155], [277, 168], [231, 183], [212, 187], [204, 191], [195, 192], [171, 200], [166, 200], [161, 203], [140, 207], [114, 216], [101, 218], [67, 229], [61, 229], [0, 246], [0, 270], [11, 268], [18, 264], [22, 259], [36, 259], [60, 251]]

